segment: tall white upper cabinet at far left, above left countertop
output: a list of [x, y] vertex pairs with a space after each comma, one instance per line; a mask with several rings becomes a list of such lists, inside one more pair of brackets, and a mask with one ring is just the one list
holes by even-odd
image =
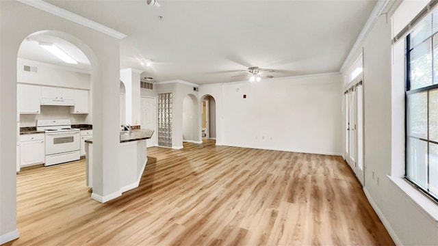
[[40, 113], [40, 86], [17, 84], [17, 98], [19, 113]]

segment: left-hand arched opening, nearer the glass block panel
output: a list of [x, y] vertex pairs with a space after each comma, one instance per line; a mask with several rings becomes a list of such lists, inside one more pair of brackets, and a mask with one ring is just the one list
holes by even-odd
[[198, 143], [198, 101], [196, 96], [188, 94], [183, 100], [183, 141]]

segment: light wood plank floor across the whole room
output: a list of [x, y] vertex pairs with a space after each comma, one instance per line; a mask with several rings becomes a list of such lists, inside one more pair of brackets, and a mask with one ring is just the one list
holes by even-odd
[[100, 204], [85, 163], [17, 176], [7, 245], [394, 245], [339, 156], [149, 148], [140, 187]]

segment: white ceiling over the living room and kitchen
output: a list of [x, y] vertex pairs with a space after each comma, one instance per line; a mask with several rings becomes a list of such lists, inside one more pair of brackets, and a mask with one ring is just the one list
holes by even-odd
[[[274, 77], [339, 72], [377, 2], [157, 0], [156, 8], [146, 0], [46, 1], [127, 34], [120, 68], [197, 84], [242, 81], [232, 76], [248, 66], [276, 70]], [[62, 64], [26, 44], [32, 42], [23, 42], [18, 57]], [[77, 68], [89, 66], [81, 61]]]

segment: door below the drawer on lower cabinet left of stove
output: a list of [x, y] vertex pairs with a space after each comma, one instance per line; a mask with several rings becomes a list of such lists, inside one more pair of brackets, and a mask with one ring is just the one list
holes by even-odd
[[44, 140], [25, 141], [20, 143], [20, 165], [44, 163]]

